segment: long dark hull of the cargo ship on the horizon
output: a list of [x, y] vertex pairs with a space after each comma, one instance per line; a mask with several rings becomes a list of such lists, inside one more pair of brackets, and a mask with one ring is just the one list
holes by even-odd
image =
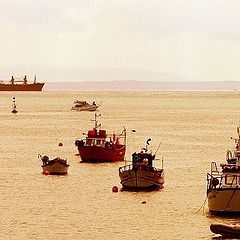
[[42, 91], [44, 83], [1, 84], [0, 91]]

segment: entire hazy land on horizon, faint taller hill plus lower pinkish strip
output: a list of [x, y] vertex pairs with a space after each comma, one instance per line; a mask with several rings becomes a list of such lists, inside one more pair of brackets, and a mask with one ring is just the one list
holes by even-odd
[[194, 81], [182, 76], [144, 69], [54, 68], [46, 66], [0, 67], [0, 80], [28, 76], [45, 82], [45, 91], [182, 91], [240, 90], [238, 81]]

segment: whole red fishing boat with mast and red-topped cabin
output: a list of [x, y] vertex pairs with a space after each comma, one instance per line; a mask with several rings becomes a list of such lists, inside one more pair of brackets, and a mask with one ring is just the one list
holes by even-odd
[[107, 135], [106, 130], [101, 129], [101, 124], [98, 124], [97, 118], [100, 116], [95, 114], [94, 127], [84, 134], [85, 139], [75, 140], [82, 162], [123, 161], [126, 151], [126, 129], [120, 134]]

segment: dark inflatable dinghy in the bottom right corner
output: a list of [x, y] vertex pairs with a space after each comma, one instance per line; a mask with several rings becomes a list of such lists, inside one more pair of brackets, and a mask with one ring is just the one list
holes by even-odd
[[227, 238], [240, 238], [240, 225], [212, 223], [210, 230]]

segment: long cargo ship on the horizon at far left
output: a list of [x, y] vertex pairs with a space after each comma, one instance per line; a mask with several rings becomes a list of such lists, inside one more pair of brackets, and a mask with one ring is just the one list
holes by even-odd
[[38, 83], [36, 80], [36, 75], [34, 77], [33, 83], [28, 83], [27, 76], [24, 78], [14, 78], [12, 76], [9, 83], [0, 81], [0, 91], [42, 91], [45, 83]]

